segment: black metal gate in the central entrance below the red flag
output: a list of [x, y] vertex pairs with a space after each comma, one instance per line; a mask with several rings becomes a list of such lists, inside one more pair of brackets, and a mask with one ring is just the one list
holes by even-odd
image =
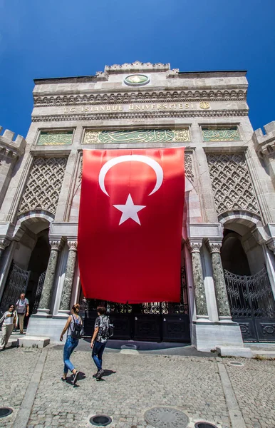
[[89, 299], [82, 302], [85, 335], [93, 335], [96, 307], [104, 305], [115, 325], [113, 339], [154, 342], [190, 342], [190, 316], [185, 269], [181, 275], [180, 303], [155, 302], [123, 305]]

